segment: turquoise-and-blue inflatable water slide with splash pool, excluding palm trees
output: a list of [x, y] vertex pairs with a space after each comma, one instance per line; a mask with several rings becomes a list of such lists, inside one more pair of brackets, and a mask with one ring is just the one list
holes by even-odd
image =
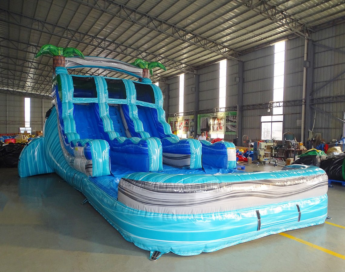
[[[69, 73], [85, 67], [136, 79]], [[134, 65], [71, 57], [53, 69], [53, 107], [43, 137], [20, 155], [20, 177], [56, 172], [150, 260], [324, 223], [322, 169], [242, 172], [233, 143], [180, 140], [165, 120], [161, 90]]]

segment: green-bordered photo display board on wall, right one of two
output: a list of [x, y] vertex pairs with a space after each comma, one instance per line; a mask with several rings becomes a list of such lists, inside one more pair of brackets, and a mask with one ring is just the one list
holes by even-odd
[[198, 114], [198, 134], [236, 134], [237, 111]]

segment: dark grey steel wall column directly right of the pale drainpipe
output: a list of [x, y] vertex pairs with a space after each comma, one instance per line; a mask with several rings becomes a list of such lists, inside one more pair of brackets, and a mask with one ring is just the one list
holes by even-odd
[[[311, 95], [313, 90], [313, 76], [314, 76], [314, 44], [312, 42], [308, 43], [308, 53], [307, 53], [307, 82], [306, 82], [306, 112], [305, 112], [305, 123], [304, 123], [304, 135], [301, 135], [301, 141], [306, 142], [308, 139], [309, 130], [312, 129], [312, 108], [311, 108]], [[302, 138], [304, 137], [304, 139]]]

